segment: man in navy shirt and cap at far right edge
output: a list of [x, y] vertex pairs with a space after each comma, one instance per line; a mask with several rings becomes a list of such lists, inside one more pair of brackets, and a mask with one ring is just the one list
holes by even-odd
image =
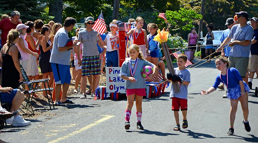
[[250, 19], [251, 21], [251, 26], [253, 27], [253, 39], [251, 42], [251, 66], [250, 66], [250, 75], [249, 75], [249, 81], [248, 81], [248, 86], [250, 89], [252, 89], [253, 85], [253, 76], [254, 73], [257, 72], [258, 68], [258, 23], [257, 23], [257, 18], [253, 17]]

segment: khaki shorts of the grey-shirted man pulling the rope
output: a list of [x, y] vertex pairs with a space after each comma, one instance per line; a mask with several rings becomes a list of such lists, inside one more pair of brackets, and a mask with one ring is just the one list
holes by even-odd
[[245, 78], [247, 67], [248, 67], [248, 61], [249, 61], [249, 57], [229, 56], [229, 67], [236, 68], [239, 71], [241, 77]]

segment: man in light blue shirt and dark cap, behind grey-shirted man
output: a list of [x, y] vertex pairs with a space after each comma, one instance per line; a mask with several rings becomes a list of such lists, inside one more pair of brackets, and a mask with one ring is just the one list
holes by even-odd
[[[224, 30], [224, 31], [222, 32], [222, 35], [221, 35], [221, 37], [220, 37], [220, 42], [221, 42], [221, 44], [222, 44], [222, 42], [226, 39], [226, 37], [228, 37], [228, 34], [229, 34], [229, 32], [230, 32], [230, 29], [233, 27], [233, 25], [235, 25], [234, 18], [228, 18], [228, 19], [226, 20], [225, 25], [228, 27], [228, 29], [226, 29], [226, 30]], [[228, 44], [225, 46], [226, 48], [225, 48], [224, 50], [221, 50], [221, 56], [222, 56], [222, 57], [227, 57], [227, 58], [229, 57], [229, 52], [230, 52], [230, 50], [231, 50], [231, 47], [227, 47], [227, 46], [228, 46]], [[224, 90], [224, 84], [222, 83], [222, 85], [219, 85], [219, 86], [218, 86], [218, 89]], [[222, 96], [222, 98], [228, 98], [228, 97], [227, 97], [227, 91], [226, 91], [226, 93]]]

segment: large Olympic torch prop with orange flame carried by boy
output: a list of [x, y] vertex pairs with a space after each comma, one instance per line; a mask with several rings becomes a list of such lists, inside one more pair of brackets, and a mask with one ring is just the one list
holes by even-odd
[[[168, 51], [168, 44], [167, 44], [168, 32], [165, 31], [164, 28], [163, 28], [162, 31], [160, 31], [158, 29], [158, 34], [154, 37], [153, 40], [158, 41], [159, 43], [161, 43], [161, 46], [162, 46], [162, 49], [163, 49], [163, 52], [164, 52], [164, 55], [165, 55], [165, 58], [166, 58], [168, 71], [172, 75], [175, 75], [175, 70], [174, 70], [174, 67], [173, 67], [173, 63], [172, 63], [172, 60], [171, 60], [171, 57], [170, 57], [170, 54], [169, 54], [169, 51]], [[176, 82], [173, 82], [172, 84], [173, 84], [173, 87], [175, 89], [175, 93], [180, 92], [178, 82], [176, 81]]]

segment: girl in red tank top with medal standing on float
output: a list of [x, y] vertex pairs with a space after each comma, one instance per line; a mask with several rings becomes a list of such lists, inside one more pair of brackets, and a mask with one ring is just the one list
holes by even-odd
[[144, 59], [147, 58], [149, 51], [149, 44], [147, 40], [147, 32], [145, 29], [142, 29], [143, 18], [137, 17], [136, 28], [132, 28], [129, 32], [125, 33], [125, 36], [130, 36], [133, 34], [133, 44], [137, 44], [140, 47], [140, 51], [143, 54]]

